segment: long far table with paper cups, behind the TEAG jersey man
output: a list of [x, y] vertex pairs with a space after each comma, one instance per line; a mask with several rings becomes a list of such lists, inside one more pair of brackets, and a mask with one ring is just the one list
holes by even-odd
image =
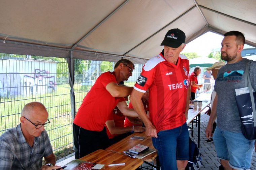
[[195, 100], [201, 100], [202, 101], [202, 107], [199, 108], [198, 105], [196, 108], [194, 108], [194, 104], [190, 104], [190, 106], [193, 107], [193, 109], [189, 109], [188, 111], [188, 120], [187, 120], [187, 124], [192, 122], [192, 136], [193, 136], [193, 120], [198, 117], [198, 124], [197, 124], [197, 128], [198, 128], [198, 139], [197, 139], [197, 147], [199, 148], [199, 144], [200, 144], [200, 121], [201, 121], [201, 115], [200, 113], [207, 107], [210, 105], [210, 100], [211, 100], [211, 94], [205, 93], [202, 94], [201, 96], [199, 96], [198, 98], [196, 98]]

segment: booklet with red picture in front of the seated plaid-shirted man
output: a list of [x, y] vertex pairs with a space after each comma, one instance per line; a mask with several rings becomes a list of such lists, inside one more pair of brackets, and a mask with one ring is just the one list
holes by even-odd
[[99, 170], [103, 168], [104, 165], [75, 159], [73, 161], [70, 161], [64, 166], [67, 166], [65, 170], [86, 170], [86, 169]]

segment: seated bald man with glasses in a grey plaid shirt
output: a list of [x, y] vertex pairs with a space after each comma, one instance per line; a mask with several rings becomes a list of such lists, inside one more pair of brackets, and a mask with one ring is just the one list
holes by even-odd
[[[53, 170], [56, 157], [44, 127], [50, 124], [48, 112], [39, 102], [31, 102], [21, 111], [21, 123], [0, 136], [0, 169]], [[45, 165], [42, 166], [42, 159]]]

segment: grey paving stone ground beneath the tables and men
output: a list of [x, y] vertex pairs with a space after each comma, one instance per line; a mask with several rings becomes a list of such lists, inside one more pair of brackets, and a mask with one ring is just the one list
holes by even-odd
[[[200, 122], [200, 147], [199, 150], [202, 154], [202, 167], [200, 170], [219, 170], [220, 166], [220, 160], [217, 158], [217, 154], [215, 151], [215, 146], [214, 142], [207, 144], [205, 143], [205, 140], [207, 139], [205, 137], [204, 130], [207, 126], [209, 120], [209, 116], [206, 114], [202, 113], [201, 114], [201, 122]], [[190, 133], [191, 134], [191, 133]], [[194, 139], [197, 140], [197, 127], [195, 127], [194, 124]], [[143, 163], [142, 164], [142, 169], [152, 169], [149, 165]], [[252, 163], [251, 163], [251, 170], [256, 170], [256, 153], [254, 152], [253, 158], [252, 158]]]

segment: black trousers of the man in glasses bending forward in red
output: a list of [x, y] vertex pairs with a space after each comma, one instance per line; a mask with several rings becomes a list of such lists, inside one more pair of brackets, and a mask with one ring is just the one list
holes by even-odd
[[102, 131], [86, 130], [73, 123], [75, 159], [82, 158], [99, 149], [105, 150], [111, 146], [106, 127]]

